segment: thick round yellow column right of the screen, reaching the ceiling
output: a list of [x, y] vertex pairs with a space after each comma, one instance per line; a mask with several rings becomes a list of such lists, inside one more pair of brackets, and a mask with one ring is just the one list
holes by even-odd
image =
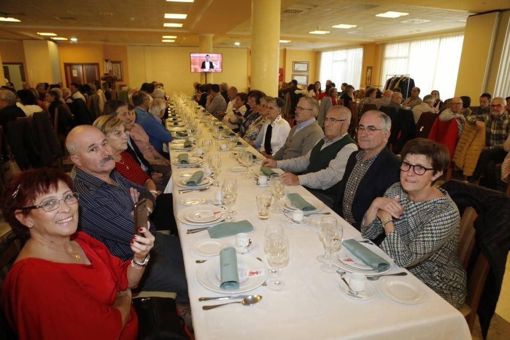
[[278, 95], [281, 0], [251, 1], [251, 89]]

